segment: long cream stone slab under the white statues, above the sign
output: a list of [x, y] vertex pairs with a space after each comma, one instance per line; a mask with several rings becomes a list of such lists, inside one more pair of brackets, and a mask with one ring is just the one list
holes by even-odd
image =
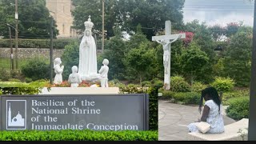
[[47, 87], [42, 89], [41, 94], [118, 94], [118, 87]]

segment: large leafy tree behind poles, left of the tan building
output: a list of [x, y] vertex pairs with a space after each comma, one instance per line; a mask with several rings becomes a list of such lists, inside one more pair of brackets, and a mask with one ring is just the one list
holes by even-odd
[[[15, 26], [15, 1], [1, 0], [0, 2], [0, 34], [9, 36], [6, 23]], [[58, 34], [54, 21], [54, 38]], [[12, 30], [15, 33], [15, 30]], [[18, 1], [18, 38], [50, 38], [50, 12], [45, 0]]]

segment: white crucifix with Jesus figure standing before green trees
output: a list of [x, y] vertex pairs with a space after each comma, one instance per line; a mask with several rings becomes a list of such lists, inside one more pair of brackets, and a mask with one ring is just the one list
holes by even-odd
[[163, 49], [163, 66], [164, 66], [164, 89], [170, 90], [170, 55], [171, 55], [171, 46], [172, 42], [177, 41], [178, 39], [186, 38], [186, 34], [171, 34], [171, 23], [166, 21], [165, 25], [166, 33], [165, 35], [154, 36], [152, 41], [162, 44]]

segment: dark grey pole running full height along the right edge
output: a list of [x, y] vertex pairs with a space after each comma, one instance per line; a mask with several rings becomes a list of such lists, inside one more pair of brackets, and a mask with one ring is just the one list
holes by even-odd
[[254, 1], [254, 34], [252, 48], [252, 62], [250, 74], [250, 108], [249, 108], [249, 126], [248, 140], [256, 141], [256, 1]]

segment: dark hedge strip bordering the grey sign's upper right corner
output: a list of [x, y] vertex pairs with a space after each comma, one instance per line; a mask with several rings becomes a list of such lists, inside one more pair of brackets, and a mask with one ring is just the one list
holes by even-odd
[[119, 88], [120, 94], [149, 94], [150, 95], [150, 130], [158, 130], [158, 88], [141, 88], [125, 86]]

